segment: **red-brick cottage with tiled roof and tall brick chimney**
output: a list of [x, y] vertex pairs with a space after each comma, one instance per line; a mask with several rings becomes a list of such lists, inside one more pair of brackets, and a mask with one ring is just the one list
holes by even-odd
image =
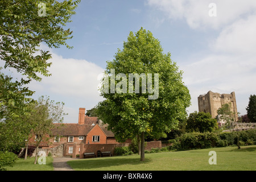
[[[106, 124], [103, 124], [98, 117], [88, 117], [85, 115], [85, 108], [79, 108], [78, 123], [55, 123], [55, 129], [48, 142], [40, 143], [40, 150], [49, 152], [53, 156], [80, 155], [83, 152], [95, 152], [96, 150], [110, 150], [113, 152], [115, 146], [129, 146], [131, 140], [119, 143], [115, 140], [112, 131], [107, 130]], [[38, 137], [34, 135], [29, 143]], [[95, 146], [97, 144], [97, 146]], [[103, 148], [102, 148], [103, 147]], [[56, 148], [58, 148], [58, 153]], [[96, 151], [97, 152], [97, 151]]]

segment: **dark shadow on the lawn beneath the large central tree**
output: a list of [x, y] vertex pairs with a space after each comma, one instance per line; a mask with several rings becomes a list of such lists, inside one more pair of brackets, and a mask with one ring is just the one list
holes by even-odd
[[[140, 164], [150, 163], [152, 159], [146, 158], [143, 162], [139, 158], [122, 158], [122, 157], [106, 157], [106, 158], [93, 158], [93, 159], [79, 159], [79, 160], [71, 160], [68, 162], [69, 166], [76, 170], [122, 170], [122, 168], [118, 169], [118, 166], [133, 166], [136, 167]], [[133, 169], [132, 169], [133, 170]]]

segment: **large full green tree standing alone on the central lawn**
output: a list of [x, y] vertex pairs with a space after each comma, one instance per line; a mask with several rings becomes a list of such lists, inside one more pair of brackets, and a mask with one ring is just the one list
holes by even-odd
[[166, 137], [178, 119], [187, 116], [191, 96], [182, 81], [183, 72], [171, 60], [171, 53], [163, 53], [159, 40], [143, 28], [130, 32], [123, 49], [107, 64], [101, 88], [106, 100], [98, 104], [97, 114], [119, 142], [141, 136], [144, 160], [146, 135]]

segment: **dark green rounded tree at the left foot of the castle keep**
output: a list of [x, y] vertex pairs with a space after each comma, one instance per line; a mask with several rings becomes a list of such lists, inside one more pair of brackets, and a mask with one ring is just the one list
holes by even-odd
[[189, 114], [187, 119], [186, 131], [187, 132], [212, 132], [217, 129], [217, 120], [212, 118], [210, 113], [195, 111]]

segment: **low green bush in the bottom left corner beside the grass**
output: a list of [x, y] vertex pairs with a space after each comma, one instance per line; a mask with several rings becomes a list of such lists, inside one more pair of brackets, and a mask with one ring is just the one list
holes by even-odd
[[18, 157], [12, 152], [0, 151], [0, 171], [6, 171], [6, 166], [12, 166]]

